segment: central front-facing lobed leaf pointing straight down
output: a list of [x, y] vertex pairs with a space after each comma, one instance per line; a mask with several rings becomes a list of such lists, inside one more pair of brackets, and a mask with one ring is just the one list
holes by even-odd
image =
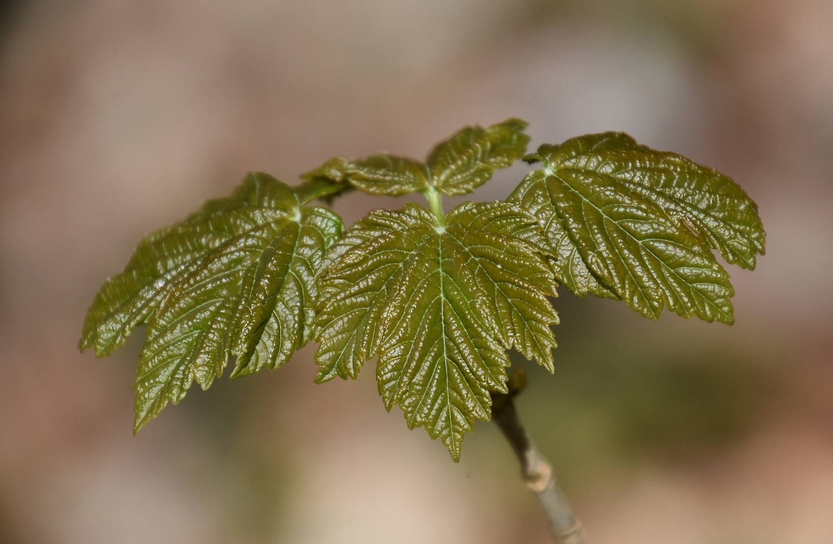
[[489, 392], [506, 392], [506, 349], [552, 370], [556, 285], [525, 239], [536, 230], [507, 202], [464, 202], [444, 222], [415, 203], [371, 212], [327, 256], [317, 382], [378, 356], [385, 407], [458, 460], [463, 434], [491, 417]]

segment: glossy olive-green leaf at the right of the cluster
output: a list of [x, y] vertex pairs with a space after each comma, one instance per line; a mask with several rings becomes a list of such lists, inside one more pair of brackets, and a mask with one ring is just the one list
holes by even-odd
[[755, 202], [729, 177], [623, 132], [543, 145], [510, 202], [536, 215], [556, 279], [578, 295], [621, 298], [646, 317], [734, 322], [729, 275], [755, 268], [766, 233]]

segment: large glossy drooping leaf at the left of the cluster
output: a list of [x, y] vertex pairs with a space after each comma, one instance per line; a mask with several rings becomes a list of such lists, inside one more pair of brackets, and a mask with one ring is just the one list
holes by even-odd
[[209, 387], [230, 357], [239, 377], [281, 366], [307, 342], [317, 277], [342, 220], [306, 204], [342, 189], [319, 182], [293, 190], [252, 172], [232, 197], [147, 235], [124, 272], [104, 283], [79, 347], [102, 357], [147, 322], [134, 432], [194, 380]]

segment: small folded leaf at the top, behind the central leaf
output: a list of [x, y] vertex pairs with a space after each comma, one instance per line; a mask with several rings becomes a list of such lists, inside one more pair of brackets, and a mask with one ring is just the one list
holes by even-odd
[[490, 127], [465, 127], [428, 154], [426, 162], [375, 153], [350, 161], [333, 157], [301, 175], [351, 182], [372, 195], [398, 196], [408, 192], [439, 190], [448, 196], [474, 191], [491, 178], [496, 168], [506, 168], [526, 152], [526, 121], [507, 119]]

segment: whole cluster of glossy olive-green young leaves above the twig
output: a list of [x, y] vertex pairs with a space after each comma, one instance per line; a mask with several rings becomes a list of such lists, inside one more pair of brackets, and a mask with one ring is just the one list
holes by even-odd
[[[766, 235], [730, 178], [621, 132], [545, 144], [524, 156], [526, 122], [466, 127], [425, 162], [387, 153], [334, 157], [295, 187], [252, 172], [232, 197], [142, 239], [87, 312], [79, 347], [98, 357], [147, 323], [134, 389], [134, 432], [203, 389], [287, 362], [310, 339], [316, 382], [356, 378], [377, 357], [382, 401], [426, 427], [451, 457], [490, 392], [506, 392], [506, 350], [553, 370], [556, 283], [625, 301], [656, 319], [734, 321], [729, 276], [754, 268]], [[541, 162], [506, 202], [464, 202], [496, 168]], [[421, 192], [429, 204], [375, 210], [342, 232], [313, 206], [356, 188]]]

